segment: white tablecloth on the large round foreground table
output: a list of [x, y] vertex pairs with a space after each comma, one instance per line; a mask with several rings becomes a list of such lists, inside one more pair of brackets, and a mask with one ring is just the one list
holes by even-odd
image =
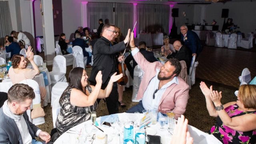
[[[124, 121], [132, 121], [135, 118], [135, 114], [129, 114], [129, 113], [119, 113], [117, 114], [118, 118], [120, 121], [124, 120]], [[140, 114], [140, 118], [142, 118], [144, 115]], [[102, 119], [106, 120], [107, 116], [104, 117], [98, 117], [96, 119], [96, 122], [98, 124], [101, 123]], [[135, 119], [136, 120], [136, 119]], [[88, 135], [88, 133], [86, 132], [86, 130], [90, 129], [90, 127], [94, 127], [91, 125], [91, 120], [88, 120], [86, 122], [83, 122], [77, 126], [74, 126], [73, 128], [71, 128], [70, 130], [68, 130], [67, 132], [65, 132], [64, 134], [62, 134], [55, 142], [54, 144], [84, 144], [85, 143], [85, 138]], [[86, 125], [86, 130], [85, 130], [85, 125]], [[88, 127], [89, 126], [89, 127]], [[97, 128], [95, 128], [96, 130], [96, 135], [98, 134], [108, 134], [108, 144], [120, 144], [119, 143], [119, 138], [118, 138], [118, 134], [113, 134], [113, 128], [112, 127], [106, 127], [106, 126], [98, 126], [100, 129], [102, 129], [104, 131], [101, 132], [100, 130], [98, 130]], [[165, 126], [167, 127], [167, 125]], [[162, 144], [169, 144], [170, 140], [171, 140], [171, 134], [167, 131], [160, 131], [160, 124], [157, 123], [155, 125], [150, 125], [149, 127], [150, 129], [152, 129], [153, 131], [156, 131], [155, 135], [161, 136], [161, 143]], [[116, 128], [117, 130], [121, 130], [121, 128]], [[148, 129], [148, 128], [147, 128]], [[134, 128], [134, 132], [138, 131], [138, 128]], [[193, 134], [192, 137], [194, 138], [194, 144], [221, 144], [221, 142], [215, 138], [212, 135], [206, 134], [205, 132], [202, 132], [200, 130], [198, 130], [197, 128], [193, 127], [193, 126], [188, 126], [188, 131]], [[92, 135], [92, 132], [90, 131], [89, 133], [90, 135]], [[122, 141], [122, 133], [120, 134], [120, 139]], [[110, 141], [111, 140], [111, 141]], [[147, 141], [147, 138], [146, 138]], [[98, 140], [98, 138], [96, 137], [96, 139], [93, 141], [93, 144], [101, 144], [102, 141]]]

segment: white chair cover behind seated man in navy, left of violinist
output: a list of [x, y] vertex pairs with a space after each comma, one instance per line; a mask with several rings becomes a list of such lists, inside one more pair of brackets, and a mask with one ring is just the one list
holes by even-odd
[[[72, 48], [73, 51], [73, 68], [76, 67], [81, 67], [84, 68], [84, 54], [83, 54], [83, 50], [80, 46], [74, 46]], [[86, 58], [86, 62], [87, 62], [87, 58]]]

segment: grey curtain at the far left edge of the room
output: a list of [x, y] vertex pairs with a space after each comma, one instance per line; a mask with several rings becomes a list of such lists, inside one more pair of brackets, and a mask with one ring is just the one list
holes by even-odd
[[8, 1], [0, 1], [0, 45], [4, 45], [4, 37], [10, 35], [11, 31], [12, 22]]

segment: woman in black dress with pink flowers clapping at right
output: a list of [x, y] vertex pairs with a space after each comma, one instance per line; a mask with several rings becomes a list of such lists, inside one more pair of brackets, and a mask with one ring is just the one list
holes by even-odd
[[200, 88], [206, 99], [206, 107], [216, 118], [210, 134], [224, 144], [254, 144], [256, 142], [256, 85], [245, 84], [239, 88], [236, 102], [222, 105], [222, 92], [212, 90], [204, 82]]

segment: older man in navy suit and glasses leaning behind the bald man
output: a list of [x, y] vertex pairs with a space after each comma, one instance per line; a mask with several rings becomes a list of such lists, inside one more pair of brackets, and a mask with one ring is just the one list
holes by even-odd
[[198, 54], [202, 51], [202, 44], [198, 35], [195, 32], [188, 30], [188, 27], [185, 24], [180, 27], [180, 33], [183, 44], [190, 49], [192, 56], [195, 55], [197, 58]]

